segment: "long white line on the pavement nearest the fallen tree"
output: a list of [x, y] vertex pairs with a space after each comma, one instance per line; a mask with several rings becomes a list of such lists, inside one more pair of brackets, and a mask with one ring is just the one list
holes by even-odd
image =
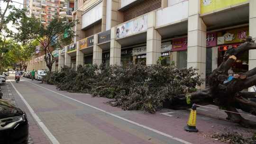
[[[27, 80], [25, 80], [25, 81], [27, 81]], [[54, 91], [54, 90], [47, 89], [47, 88], [45, 88], [45, 87], [43, 87], [43, 86], [40, 86], [40, 85], [38, 85], [38, 84], [36, 84], [36, 83], [30, 82], [30, 81], [27, 81], [27, 82], [32, 83], [32, 84], [34, 84], [34, 85], [36, 85], [36, 86], [38, 86], [38, 87], [41, 87], [41, 88], [43, 88], [43, 89], [45, 89], [45, 90], [52, 91], [52, 92], [54, 92], [54, 93], [56, 93], [56, 94], [58, 94], [58, 95], [61, 95], [61, 96], [65, 97], [65, 98], [67, 98], [67, 99], [71, 99], [71, 100], [73, 100], [73, 101], [76, 101], [76, 102], [78, 102], [78, 103], [81, 103], [81, 104], [83, 104], [83, 105], [85, 105], [85, 106], [88, 106], [88, 107], [97, 109], [97, 110], [99, 110], [99, 111], [101, 111], [101, 112], [104, 112], [104, 113], [110, 115], [110, 116], [117, 117], [117, 118], [119, 118], [119, 119], [121, 119], [121, 120], [124, 120], [124, 121], [126, 121], [126, 122], [128, 122], [128, 123], [134, 124], [134, 125], [136, 125], [136, 126], [143, 127], [143, 128], [145, 128], [145, 129], [150, 130], [150, 131], [152, 131], [152, 132], [155, 132], [155, 133], [157, 133], [157, 134], [159, 134], [159, 135], [164, 135], [164, 136], [166, 136], [166, 137], [169, 137], [169, 138], [171, 138], [171, 139], [174, 139], [174, 140], [176, 140], [176, 141], [179, 141], [179, 142], [181, 142], [181, 143], [183, 143], [183, 144], [192, 144], [192, 143], [190, 143], [190, 142], [187, 142], [187, 141], [185, 141], [185, 140], [179, 139], [179, 138], [174, 137], [174, 136], [172, 136], [172, 135], [168, 135], [168, 134], [166, 134], [166, 133], [163, 133], [163, 132], [158, 131], [158, 130], [156, 130], [156, 129], [153, 129], [153, 128], [151, 128], [151, 127], [144, 126], [144, 125], [142, 125], [142, 124], [136, 123], [136, 122], [131, 121], [131, 120], [128, 120], [128, 119], [126, 119], [126, 118], [123, 118], [123, 117], [120, 117], [120, 116], [118, 116], [118, 115], [112, 114], [112, 113], [110, 113], [110, 112], [107, 112], [106, 110], [103, 110], [103, 109], [100, 109], [100, 108], [96, 108], [96, 107], [91, 106], [91, 105], [89, 105], [89, 104], [86, 104], [86, 103], [84, 103], [84, 102], [82, 102], [82, 101], [79, 101], [79, 100], [70, 98], [70, 97], [68, 97], [68, 96], [65, 96], [64, 94], [58, 93], [58, 92], [56, 92], [56, 91]]]

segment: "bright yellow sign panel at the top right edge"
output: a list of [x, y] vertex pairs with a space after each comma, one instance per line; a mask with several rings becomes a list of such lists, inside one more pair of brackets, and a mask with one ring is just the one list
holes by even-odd
[[201, 0], [201, 14], [228, 8], [248, 0]]

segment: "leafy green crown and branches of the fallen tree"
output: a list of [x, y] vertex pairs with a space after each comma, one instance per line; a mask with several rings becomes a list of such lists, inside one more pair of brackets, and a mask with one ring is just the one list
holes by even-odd
[[91, 93], [96, 97], [113, 99], [111, 105], [124, 110], [145, 110], [150, 113], [163, 108], [176, 95], [196, 91], [202, 81], [196, 69], [174, 66], [78, 66], [64, 67], [61, 72], [48, 74], [44, 81], [59, 90]]

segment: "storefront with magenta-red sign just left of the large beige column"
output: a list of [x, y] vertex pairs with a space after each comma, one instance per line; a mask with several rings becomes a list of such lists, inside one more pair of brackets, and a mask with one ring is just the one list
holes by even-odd
[[179, 69], [187, 68], [188, 38], [177, 38], [172, 40], [172, 53], [176, 53], [176, 66]]

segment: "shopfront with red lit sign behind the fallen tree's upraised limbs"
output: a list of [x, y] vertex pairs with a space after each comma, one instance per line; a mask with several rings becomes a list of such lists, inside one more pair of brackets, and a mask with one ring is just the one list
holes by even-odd
[[[241, 27], [218, 32], [218, 66], [222, 63], [223, 57], [229, 47], [236, 48], [246, 37], [249, 36], [249, 28]], [[248, 71], [249, 52], [239, 55], [236, 63], [232, 65], [234, 74]]]

